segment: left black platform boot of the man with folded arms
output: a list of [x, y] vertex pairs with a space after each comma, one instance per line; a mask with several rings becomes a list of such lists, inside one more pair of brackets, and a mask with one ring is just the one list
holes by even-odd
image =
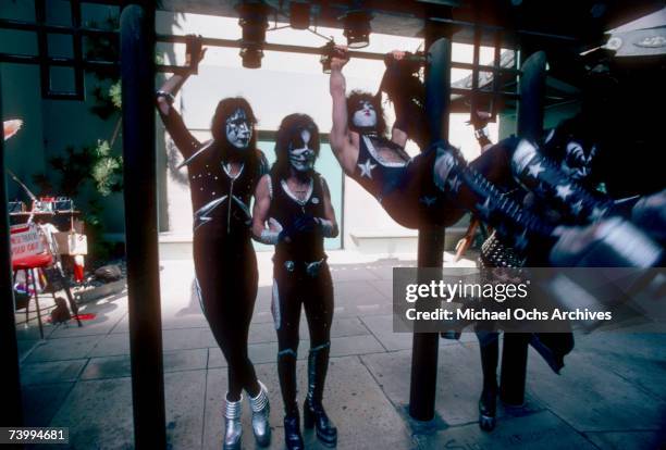
[[285, 349], [278, 353], [278, 375], [284, 402], [284, 445], [287, 450], [303, 450], [300, 417], [296, 403], [296, 351]]

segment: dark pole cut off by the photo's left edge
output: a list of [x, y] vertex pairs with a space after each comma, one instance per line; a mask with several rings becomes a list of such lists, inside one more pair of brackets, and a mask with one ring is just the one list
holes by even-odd
[[[2, 88], [0, 83], [0, 117], [2, 117]], [[0, 120], [0, 122], [2, 122]], [[4, 167], [4, 136], [0, 136], [0, 354], [4, 359], [4, 376], [0, 424], [23, 426], [21, 401], [21, 375], [18, 373], [18, 347], [14, 320], [14, 290], [12, 289], [12, 255], [10, 247], [9, 209], [7, 204], [7, 177]]]

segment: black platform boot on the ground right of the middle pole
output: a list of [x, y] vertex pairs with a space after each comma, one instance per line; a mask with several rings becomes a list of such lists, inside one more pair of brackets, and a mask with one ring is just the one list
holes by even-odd
[[495, 428], [497, 412], [497, 360], [499, 342], [497, 333], [477, 334], [481, 350], [481, 367], [483, 370], [483, 391], [479, 399], [479, 427], [484, 432]]

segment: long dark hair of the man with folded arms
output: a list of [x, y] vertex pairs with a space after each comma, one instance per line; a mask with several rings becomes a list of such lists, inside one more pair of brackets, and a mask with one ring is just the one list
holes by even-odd
[[319, 157], [319, 127], [307, 114], [294, 113], [282, 120], [278, 136], [275, 138], [275, 162], [271, 173], [278, 179], [286, 179], [289, 176], [289, 143], [300, 139], [300, 132], [310, 133], [310, 148]]

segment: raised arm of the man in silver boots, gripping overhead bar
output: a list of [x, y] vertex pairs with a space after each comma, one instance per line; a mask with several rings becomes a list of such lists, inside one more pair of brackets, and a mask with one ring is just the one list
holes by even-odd
[[[201, 53], [198, 55], [199, 61], [203, 59], [205, 54], [206, 49], [201, 49]], [[186, 58], [186, 63], [189, 66], [192, 55], [188, 53]], [[169, 132], [174, 143], [185, 159], [194, 154], [194, 152], [201, 146], [197, 138], [195, 138], [185, 126], [181, 114], [178, 114], [175, 108], [173, 108], [175, 95], [178, 92], [187, 78], [189, 78], [189, 75], [192, 75], [189, 72], [174, 74], [171, 78], [164, 82], [156, 95], [156, 105], [158, 108], [158, 112], [160, 113], [160, 117], [166, 127], [166, 132]]]

